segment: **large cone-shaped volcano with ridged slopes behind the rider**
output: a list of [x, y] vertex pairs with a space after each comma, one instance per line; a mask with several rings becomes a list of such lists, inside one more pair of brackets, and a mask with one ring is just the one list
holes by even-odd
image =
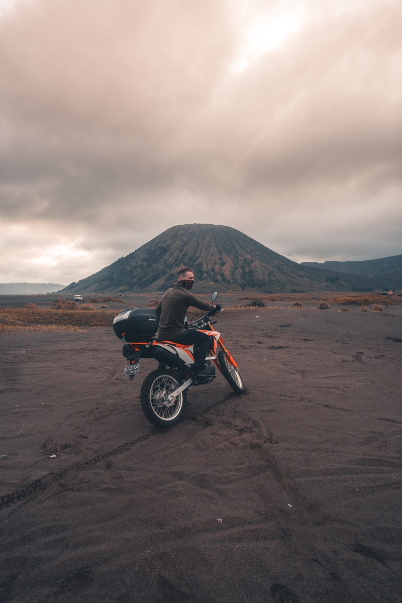
[[136, 251], [65, 293], [165, 291], [181, 266], [193, 268], [195, 291], [304, 292], [370, 291], [365, 277], [310, 268], [281, 256], [239, 230], [213, 224], [184, 224], [165, 230]]

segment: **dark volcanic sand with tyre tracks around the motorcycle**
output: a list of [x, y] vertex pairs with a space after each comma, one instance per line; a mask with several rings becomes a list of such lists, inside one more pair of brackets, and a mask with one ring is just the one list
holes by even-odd
[[402, 601], [402, 309], [239, 310], [159, 432], [111, 329], [0, 335], [0, 601]]

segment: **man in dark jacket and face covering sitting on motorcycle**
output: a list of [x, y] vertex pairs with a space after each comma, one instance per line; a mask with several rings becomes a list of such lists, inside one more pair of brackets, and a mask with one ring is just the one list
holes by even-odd
[[209, 350], [209, 336], [196, 329], [185, 329], [184, 319], [189, 306], [200, 310], [219, 312], [221, 306], [199, 300], [190, 289], [194, 284], [194, 274], [191, 268], [180, 268], [177, 272], [177, 282], [174, 283], [162, 297], [155, 308], [159, 317], [157, 338], [163, 341], [173, 341], [184, 346], [195, 344], [196, 377], [209, 377], [209, 367], [205, 359]]

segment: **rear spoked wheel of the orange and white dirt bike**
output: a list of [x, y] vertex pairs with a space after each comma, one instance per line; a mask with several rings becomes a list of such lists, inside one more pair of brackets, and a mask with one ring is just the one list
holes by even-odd
[[140, 394], [142, 410], [155, 427], [169, 427], [183, 418], [186, 392], [182, 391], [173, 400], [169, 398], [179, 385], [177, 375], [169, 369], [152, 371], [143, 382]]

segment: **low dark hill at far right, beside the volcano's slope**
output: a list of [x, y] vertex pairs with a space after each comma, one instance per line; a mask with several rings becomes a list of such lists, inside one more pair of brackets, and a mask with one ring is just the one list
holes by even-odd
[[346, 274], [359, 274], [374, 280], [375, 289], [391, 291], [402, 289], [402, 255], [380, 257], [375, 260], [363, 260], [362, 262], [302, 262], [303, 266], [320, 268], [321, 270], [333, 270]]

